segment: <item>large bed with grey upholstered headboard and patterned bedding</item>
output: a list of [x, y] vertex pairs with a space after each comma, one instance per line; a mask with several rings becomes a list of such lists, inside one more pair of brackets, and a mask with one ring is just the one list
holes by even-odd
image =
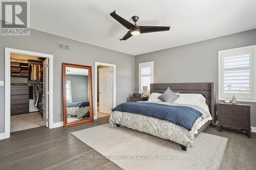
[[[198, 118], [195, 120], [193, 127], [191, 126], [190, 129], [187, 127], [184, 128], [183, 125], [180, 125], [178, 123], [177, 125], [175, 123], [168, 122], [167, 120], [156, 118], [154, 117], [154, 115], [148, 116], [151, 114], [142, 115], [142, 114], [133, 113], [132, 111], [123, 112], [123, 111], [118, 111], [114, 109], [115, 111], [112, 112], [109, 119], [111, 128], [114, 128], [115, 126], [119, 127], [120, 125], [122, 125], [127, 128], [131, 128], [134, 130], [152, 134], [154, 136], [157, 136], [163, 139], [169, 139], [174, 142], [177, 142], [181, 145], [181, 148], [184, 151], [187, 150], [187, 147], [194, 148], [195, 138], [198, 136], [198, 134], [200, 134], [210, 124], [214, 124], [216, 120], [215, 84], [214, 83], [156, 83], [156, 84], [151, 84], [150, 93], [151, 94], [163, 93], [168, 87], [172, 91], [179, 94], [180, 96], [200, 96], [205, 101], [204, 104], [206, 105], [206, 109], [205, 107], [203, 108], [196, 105], [186, 105], [186, 103], [179, 104], [179, 103], [167, 103], [167, 102], [141, 102], [141, 103], [135, 104], [130, 102], [129, 104], [127, 103], [126, 104], [134, 107], [134, 109], [137, 109], [136, 107], [137, 106], [139, 107], [140, 105], [146, 105], [146, 106], [143, 106], [145, 108], [150, 106], [152, 108], [158, 107], [160, 109], [162, 109], [163, 107], [168, 108], [167, 105], [170, 105], [173, 107], [181, 106], [181, 108], [190, 108], [190, 109], [192, 108], [193, 110], [196, 110], [202, 113], [202, 116], [199, 115]], [[187, 95], [183, 95], [183, 94], [187, 94]], [[131, 107], [129, 109], [131, 109]], [[206, 114], [208, 114], [211, 117], [206, 116]]]

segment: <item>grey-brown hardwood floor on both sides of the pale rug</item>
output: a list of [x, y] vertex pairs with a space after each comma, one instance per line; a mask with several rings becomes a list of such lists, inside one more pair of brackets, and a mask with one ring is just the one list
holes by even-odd
[[[13, 132], [10, 138], [0, 140], [0, 169], [120, 169], [108, 159], [78, 159], [82, 155], [100, 154], [70, 134], [108, 123], [108, 120], [106, 116], [69, 128], [38, 127]], [[208, 127], [204, 132], [229, 139], [221, 169], [255, 169], [255, 133], [249, 139], [233, 130], [219, 132], [217, 127]]]

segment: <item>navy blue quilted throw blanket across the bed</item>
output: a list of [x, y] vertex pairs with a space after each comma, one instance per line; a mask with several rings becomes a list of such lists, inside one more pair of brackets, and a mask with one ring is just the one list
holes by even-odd
[[186, 106], [170, 106], [157, 103], [126, 102], [118, 105], [113, 111], [129, 112], [155, 117], [191, 131], [196, 120], [202, 116], [198, 110]]

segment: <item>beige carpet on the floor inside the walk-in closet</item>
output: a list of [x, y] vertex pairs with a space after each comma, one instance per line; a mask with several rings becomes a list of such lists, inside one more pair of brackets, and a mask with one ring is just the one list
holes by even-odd
[[40, 112], [11, 115], [11, 132], [45, 126]]

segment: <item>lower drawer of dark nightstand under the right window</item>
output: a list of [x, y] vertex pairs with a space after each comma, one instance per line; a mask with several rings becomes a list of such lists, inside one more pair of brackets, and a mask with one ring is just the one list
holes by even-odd
[[247, 127], [248, 120], [244, 117], [236, 117], [236, 116], [228, 116], [228, 115], [221, 115], [221, 124], [229, 124], [239, 127]]

